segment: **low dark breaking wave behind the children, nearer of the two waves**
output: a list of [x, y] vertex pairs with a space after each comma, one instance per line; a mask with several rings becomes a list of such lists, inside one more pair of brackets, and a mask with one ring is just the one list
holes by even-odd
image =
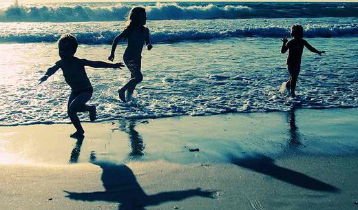
[[[259, 36], [277, 37], [288, 34], [288, 28], [268, 27], [268, 28], [241, 28], [237, 30], [163, 30], [152, 31], [151, 39], [154, 42], [180, 42], [193, 41], [200, 39], [223, 39], [229, 37]], [[85, 44], [105, 44], [112, 43], [118, 31], [102, 32], [74, 32], [80, 43]], [[43, 33], [21, 33], [21, 34], [0, 34], [0, 42], [36, 43], [54, 42], [59, 39], [61, 34]], [[305, 36], [308, 37], [339, 37], [339, 36], [358, 36], [358, 25], [306, 25]]]

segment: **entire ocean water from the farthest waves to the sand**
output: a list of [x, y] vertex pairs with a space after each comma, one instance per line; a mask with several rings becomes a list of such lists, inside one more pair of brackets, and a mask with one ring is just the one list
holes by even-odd
[[[358, 3], [13, 3], [0, 5], [0, 125], [70, 122], [61, 70], [37, 85], [59, 60], [56, 40], [70, 32], [76, 56], [106, 61], [133, 6], [147, 10], [154, 49], [143, 50], [144, 80], [129, 103], [116, 93], [127, 69], [87, 68], [100, 121], [358, 107]], [[295, 100], [279, 91], [288, 79], [280, 37], [293, 23], [326, 50], [304, 50]]]

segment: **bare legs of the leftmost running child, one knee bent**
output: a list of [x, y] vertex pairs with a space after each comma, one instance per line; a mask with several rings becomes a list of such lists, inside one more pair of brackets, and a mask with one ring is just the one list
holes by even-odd
[[[71, 97], [72, 96], [72, 97]], [[95, 115], [95, 106], [86, 105], [87, 101], [92, 97], [92, 93], [83, 92], [78, 96], [74, 97], [72, 94], [70, 96], [70, 100], [74, 98], [72, 101], [69, 101], [70, 105], [68, 105], [67, 113], [70, 116], [70, 120], [74, 127], [76, 128], [76, 132], [71, 135], [71, 137], [81, 137], [85, 133], [81, 122], [77, 116], [77, 112], [89, 112], [90, 116], [93, 114]]]

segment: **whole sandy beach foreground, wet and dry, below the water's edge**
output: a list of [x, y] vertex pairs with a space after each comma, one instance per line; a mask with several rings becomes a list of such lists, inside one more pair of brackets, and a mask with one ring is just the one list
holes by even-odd
[[0, 127], [0, 209], [357, 209], [357, 114]]

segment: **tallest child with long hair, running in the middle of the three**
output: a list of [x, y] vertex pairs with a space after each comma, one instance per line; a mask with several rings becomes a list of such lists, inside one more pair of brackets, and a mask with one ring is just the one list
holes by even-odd
[[127, 39], [127, 48], [123, 54], [123, 61], [131, 72], [131, 79], [120, 90], [118, 90], [119, 99], [126, 102], [125, 92], [131, 96], [133, 94], [136, 85], [143, 81], [143, 74], [140, 72], [142, 50], [143, 45], [147, 45], [147, 50], [151, 50], [153, 46], [149, 39], [149, 29], [144, 25], [147, 20], [147, 14], [145, 8], [135, 7], [132, 8], [125, 30], [120, 33], [113, 41], [111, 55], [108, 57], [109, 61], [114, 60], [114, 53], [120, 39]]

